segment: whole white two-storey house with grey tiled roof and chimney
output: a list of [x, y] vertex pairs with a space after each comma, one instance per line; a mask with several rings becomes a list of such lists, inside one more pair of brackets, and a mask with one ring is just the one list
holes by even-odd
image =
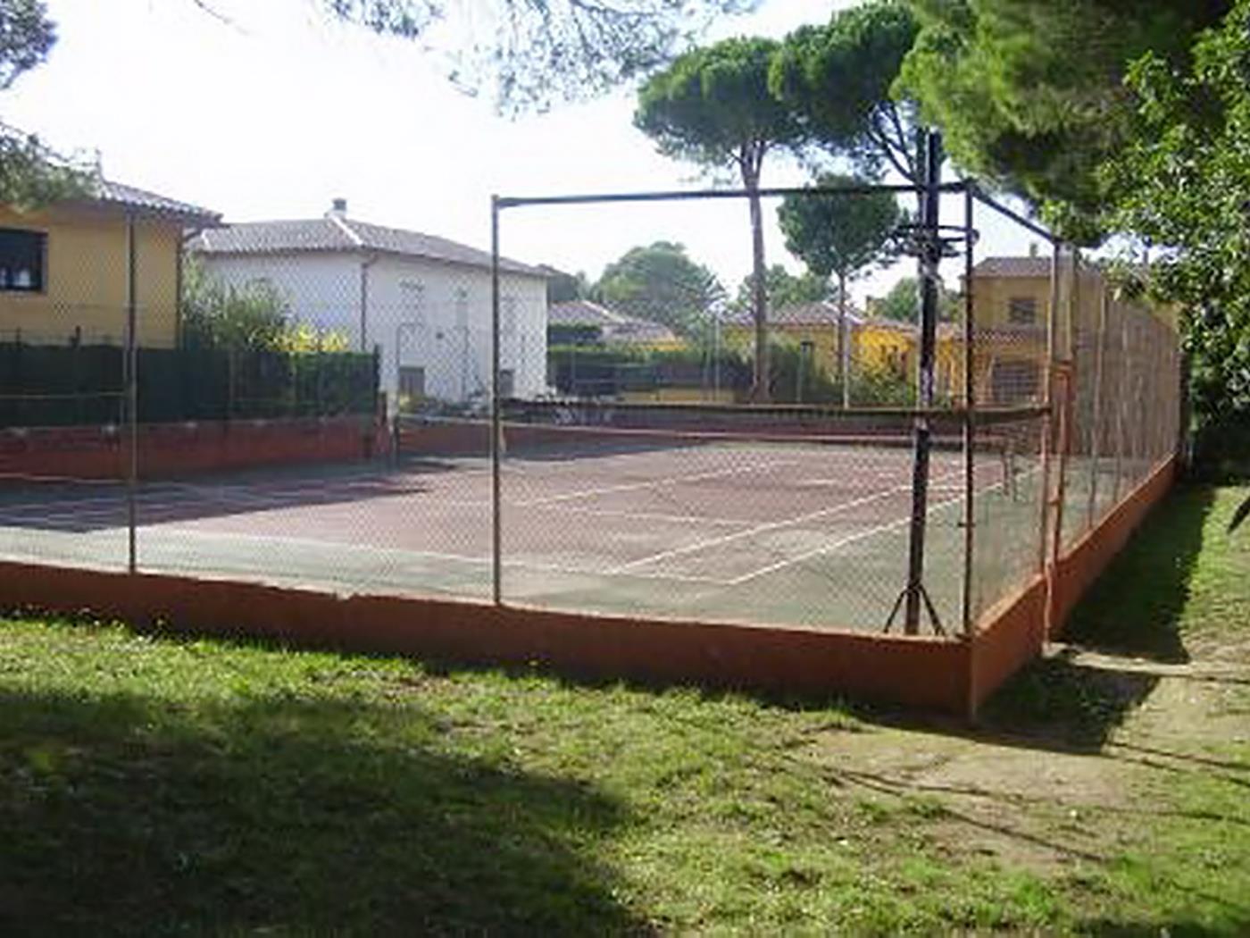
[[[291, 316], [381, 355], [381, 386], [399, 395], [470, 401], [490, 394], [491, 304], [486, 251], [445, 238], [370, 225], [346, 203], [320, 219], [205, 230], [188, 249], [215, 280], [268, 281]], [[546, 389], [546, 279], [500, 260], [500, 391]]]

